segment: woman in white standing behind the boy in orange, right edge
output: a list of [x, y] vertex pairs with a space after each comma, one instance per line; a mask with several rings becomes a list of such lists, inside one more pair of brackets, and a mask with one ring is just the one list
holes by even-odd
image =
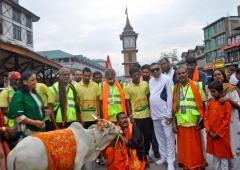
[[[213, 79], [223, 83], [223, 97], [219, 100], [224, 103], [229, 101], [232, 106], [231, 123], [230, 123], [230, 140], [233, 159], [230, 160], [230, 169], [240, 169], [240, 98], [239, 91], [236, 86], [228, 82], [227, 76], [223, 70], [215, 70], [213, 72]], [[209, 99], [212, 98], [209, 95]]]

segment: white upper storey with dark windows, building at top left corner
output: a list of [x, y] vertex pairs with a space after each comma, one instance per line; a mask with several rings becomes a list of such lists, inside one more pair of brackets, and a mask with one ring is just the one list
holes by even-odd
[[0, 1], [1, 41], [33, 50], [33, 27], [39, 17], [28, 11], [18, 0]]

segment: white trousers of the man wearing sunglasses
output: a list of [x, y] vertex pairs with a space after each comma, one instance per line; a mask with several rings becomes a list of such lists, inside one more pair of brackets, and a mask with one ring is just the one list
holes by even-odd
[[173, 164], [175, 161], [175, 137], [172, 124], [167, 125], [165, 118], [162, 118], [153, 120], [153, 126], [161, 159], [165, 159], [168, 164]]

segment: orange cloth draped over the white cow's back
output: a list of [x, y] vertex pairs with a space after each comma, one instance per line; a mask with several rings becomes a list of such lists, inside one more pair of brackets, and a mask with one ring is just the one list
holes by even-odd
[[72, 170], [77, 144], [71, 129], [61, 129], [32, 135], [41, 139], [48, 156], [48, 170]]

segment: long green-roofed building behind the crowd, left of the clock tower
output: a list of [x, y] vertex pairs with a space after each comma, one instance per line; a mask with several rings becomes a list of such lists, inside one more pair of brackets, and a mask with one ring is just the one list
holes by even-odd
[[71, 71], [83, 70], [84, 67], [89, 67], [92, 72], [100, 71], [102, 74], [104, 73], [104, 67], [102, 65], [83, 55], [72, 55], [61, 50], [39, 51], [37, 53], [59, 63], [63, 67], [68, 67]]

